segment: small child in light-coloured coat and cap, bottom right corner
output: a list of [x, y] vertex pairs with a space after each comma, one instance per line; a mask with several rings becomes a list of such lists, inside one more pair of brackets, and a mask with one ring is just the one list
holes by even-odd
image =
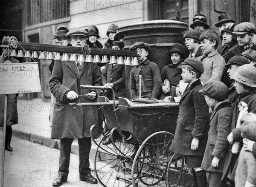
[[[237, 187], [256, 186], [256, 115], [247, 113], [241, 117], [241, 135], [244, 145], [239, 155], [235, 184]], [[247, 149], [247, 142], [253, 142], [253, 150]]]

